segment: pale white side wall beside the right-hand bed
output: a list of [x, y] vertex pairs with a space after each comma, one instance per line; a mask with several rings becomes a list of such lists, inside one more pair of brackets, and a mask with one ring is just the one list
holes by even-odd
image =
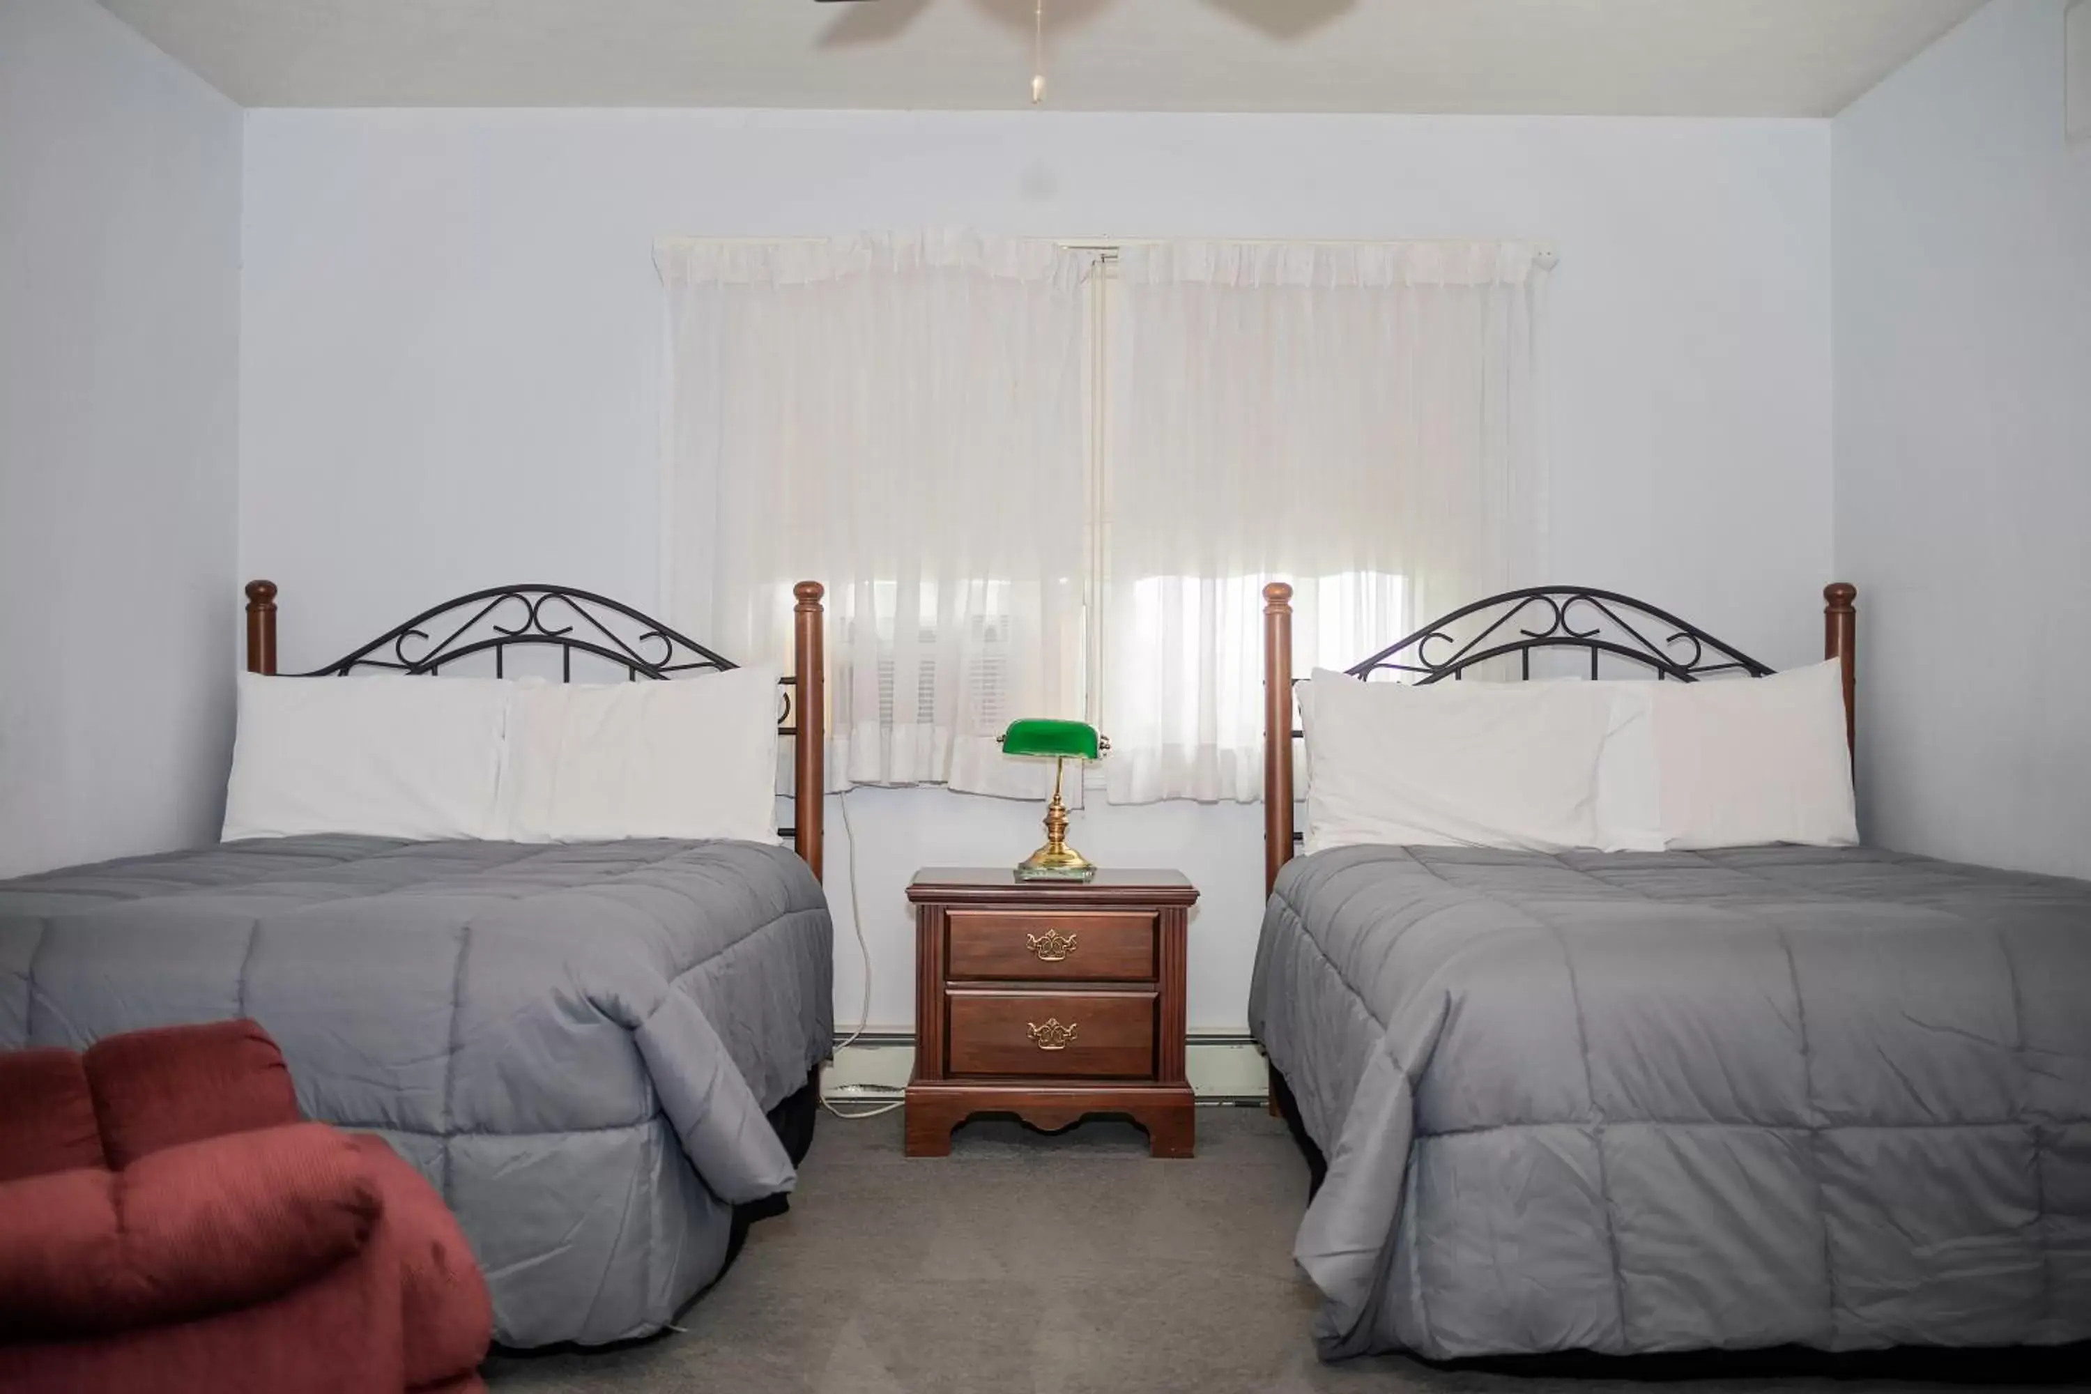
[[2091, 142], [2064, 0], [1836, 119], [1836, 560], [1869, 840], [2091, 876]]

